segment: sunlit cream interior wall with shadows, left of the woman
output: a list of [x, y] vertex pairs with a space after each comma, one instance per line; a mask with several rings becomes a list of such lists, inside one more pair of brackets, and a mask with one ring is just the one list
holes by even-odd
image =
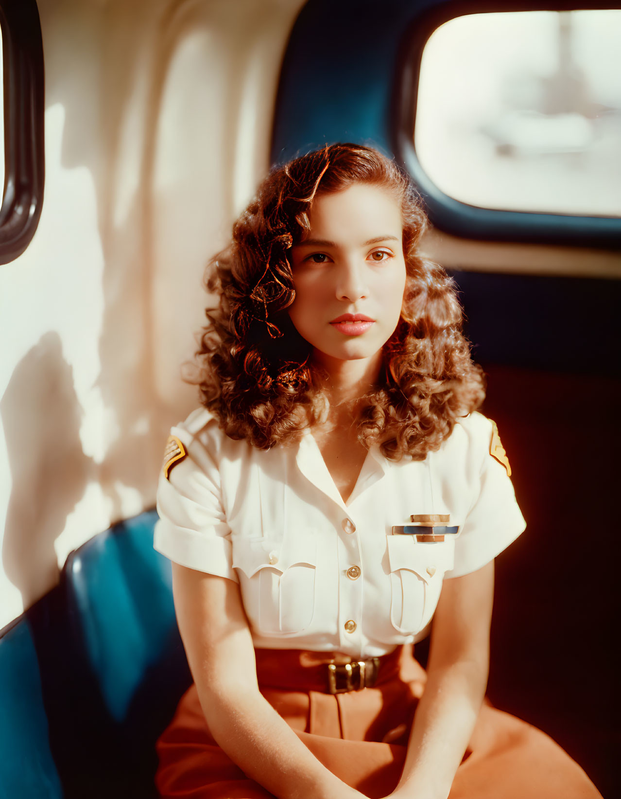
[[[38, 0], [45, 201], [0, 266], [0, 626], [151, 507], [208, 256], [267, 169], [302, 0]], [[0, 529], [2, 529], [0, 527]]]

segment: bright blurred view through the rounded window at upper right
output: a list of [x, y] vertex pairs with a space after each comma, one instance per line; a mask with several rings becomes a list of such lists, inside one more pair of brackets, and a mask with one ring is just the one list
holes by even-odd
[[469, 205], [621, 216], [621, 10], [446, 22], [422, 54], [414, 148]]

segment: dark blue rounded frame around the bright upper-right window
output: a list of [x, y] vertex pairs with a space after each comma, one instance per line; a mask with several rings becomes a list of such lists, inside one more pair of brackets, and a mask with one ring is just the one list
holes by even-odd
[[[619, 9], [619, 4], [598, 3], [598, 10], [607, 9]], [[570, 244], [610, 249], [616, 249], [621, 244], [619, 218], [486, 209], [449, 197], [425, 173], [414, 149], [413, 131], [422, 53], [429, 37], [438, 27], [467, 14], [571, 10], [576, 10], [576, 4], [562, 0], [502, 4], [497, 0], [447, 0], [417, 15], [405, 30], [394, 84], [393, 149], [417, 185], [429, 219], [438, 229], [469, 239]]]

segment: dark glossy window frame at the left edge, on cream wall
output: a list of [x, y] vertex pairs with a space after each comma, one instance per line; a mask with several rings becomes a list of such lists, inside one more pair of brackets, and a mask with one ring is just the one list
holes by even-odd
[[45, 73], [35, 0], [0, 0], [5, 177], [0, 264], [24, 252], [37, 229], [45, 184]]

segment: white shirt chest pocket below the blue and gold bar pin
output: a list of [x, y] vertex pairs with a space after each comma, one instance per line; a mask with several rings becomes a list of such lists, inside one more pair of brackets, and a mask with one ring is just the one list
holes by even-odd
[[410, 535], [388, 535], [390, 623], [401, 634], [422, 630], [436, 610], [445, 571], [453, 568], [455, 542], [417, 541]]

